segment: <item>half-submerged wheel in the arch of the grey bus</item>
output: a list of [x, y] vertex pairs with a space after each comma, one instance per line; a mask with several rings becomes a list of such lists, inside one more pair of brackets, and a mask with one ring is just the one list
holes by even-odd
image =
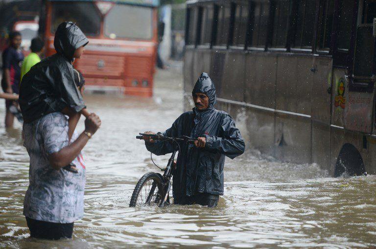
[[367, 175], [363, 158], [352, 144], [346, 143], [339, 152], [334, 177], [362, 175]]

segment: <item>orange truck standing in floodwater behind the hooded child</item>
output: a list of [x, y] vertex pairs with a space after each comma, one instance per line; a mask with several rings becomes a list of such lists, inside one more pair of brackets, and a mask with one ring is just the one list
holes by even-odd
[[64, 21], [76, 23], [89, 39], [74, 62], [89, 90], [115, 90], [151, 97], [158, 48], [158, 0], [45, 0], [40, 32], [47, 56], [55, 53], [54, 32]]

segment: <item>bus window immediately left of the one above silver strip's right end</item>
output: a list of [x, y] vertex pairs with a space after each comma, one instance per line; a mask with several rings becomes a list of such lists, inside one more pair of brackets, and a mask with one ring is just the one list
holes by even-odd
[[273, 10], [273, 34], [271, 46], [276, 48], [285, 48], [287, 40], [287, 29], [289, 21], [289, 0], [272, 1]]

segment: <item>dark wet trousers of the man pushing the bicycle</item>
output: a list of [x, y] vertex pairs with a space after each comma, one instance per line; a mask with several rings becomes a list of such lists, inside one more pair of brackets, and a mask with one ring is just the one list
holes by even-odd
[[216, 207], [218, 204], [219, 195], [212, 195], [208, 193], [196, 193], [193, 196], [176, 196], [174, 204], [192, 205], [199, 204], [202, 206]]

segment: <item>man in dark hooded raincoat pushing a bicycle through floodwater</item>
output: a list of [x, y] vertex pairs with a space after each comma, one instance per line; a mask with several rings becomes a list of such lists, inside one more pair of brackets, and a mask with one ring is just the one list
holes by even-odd
[[[190, 136], [193, 144], [180, 144], [177, 167], [173, 173], [174, 204], [201, 204], [214, 207], [223, 195], [225, 156], [234, 159], [243, 154], [244, 140], [231, 116], [214, 109], [215, 87], [205, 72], [192, 91], [195, 108], [175, 120], [164, 136]], [[154, 134], [152, 132], [146, 132]], [[148, 140], [148, 151], [155, 155], [172, 153], [175, 147], [166, 141]]]

